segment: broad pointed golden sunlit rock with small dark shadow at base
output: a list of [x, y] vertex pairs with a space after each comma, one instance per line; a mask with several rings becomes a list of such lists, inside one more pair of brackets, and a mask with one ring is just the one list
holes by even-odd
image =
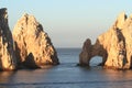
[[33, 15], [24, 14], [13, 30], [18, 65], [37, 68], [59, 64], [57, 53], [43, 26]]

